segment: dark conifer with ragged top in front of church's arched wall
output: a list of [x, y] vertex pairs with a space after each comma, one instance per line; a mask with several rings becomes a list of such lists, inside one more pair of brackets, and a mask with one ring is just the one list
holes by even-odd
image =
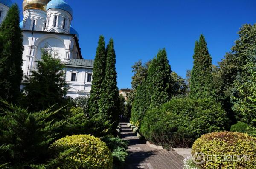
[[67, 84], [64, 79], [61, 60], [42, 50], [41, 60], [37, 61], [31, 76], [25, 76], [24, 91], [29, 110], [40, 111], [57, 104], [63, 107], [67, 104], [64, 96], [67, 94]]

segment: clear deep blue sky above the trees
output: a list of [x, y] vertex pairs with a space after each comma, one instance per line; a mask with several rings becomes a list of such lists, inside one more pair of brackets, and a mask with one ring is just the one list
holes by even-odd
[[[13, 0], [22, 5], [23, 0]], [[99, 35], [112, 37], [118, 87], [131, 87], [131, 66], [166, 48], [171, 69], [192, 69], [195, 40], [204, 34], [213, 64], [230, 51], [237, 32], [256, 23], [256, 0], [66, 0], [73, 8], [84, 59], [94, 59]]]

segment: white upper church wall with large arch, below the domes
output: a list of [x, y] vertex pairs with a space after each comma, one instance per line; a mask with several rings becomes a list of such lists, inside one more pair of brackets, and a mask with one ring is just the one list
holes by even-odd
[[32, 31], [23, 31], [23, 72], [27, 74], [28, 69], [35, 68], [35, 61], [41, 59], [41, 49], [44, 47], [47, 47], [44, 50], [52, 54], [53, 52], [57, 52], [62, 61], [67, 61], [69, 58], [76, 58], [77, 52], [73, 51], [77, 51], [77, 47], [74, 40], [70, 42], [72, 38], [73, 35], [70, 34], [49, 34], [38, 31], [34, 31], [34, 38], [32, 38]]

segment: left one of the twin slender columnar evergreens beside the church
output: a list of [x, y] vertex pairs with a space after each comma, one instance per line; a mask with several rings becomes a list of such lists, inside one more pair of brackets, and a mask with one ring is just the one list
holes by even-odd
[[99, 113], [99, 100], [103, 92], [103, 80], [105, 76], [106, 67], [106, 50], [104, 37], [99, 37], [98, 47], [93, 65], [93, 81], [92, 89], [90, 91], [90, 99], [88, 104], [88, 113], [91, 117]]

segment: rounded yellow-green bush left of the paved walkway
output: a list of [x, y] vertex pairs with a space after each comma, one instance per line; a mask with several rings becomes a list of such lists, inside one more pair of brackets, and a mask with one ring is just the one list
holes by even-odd
[[91, 135], [66, 136], [50, 147], [53, 168], [112, 169], [113, 157], [108, 146]]

